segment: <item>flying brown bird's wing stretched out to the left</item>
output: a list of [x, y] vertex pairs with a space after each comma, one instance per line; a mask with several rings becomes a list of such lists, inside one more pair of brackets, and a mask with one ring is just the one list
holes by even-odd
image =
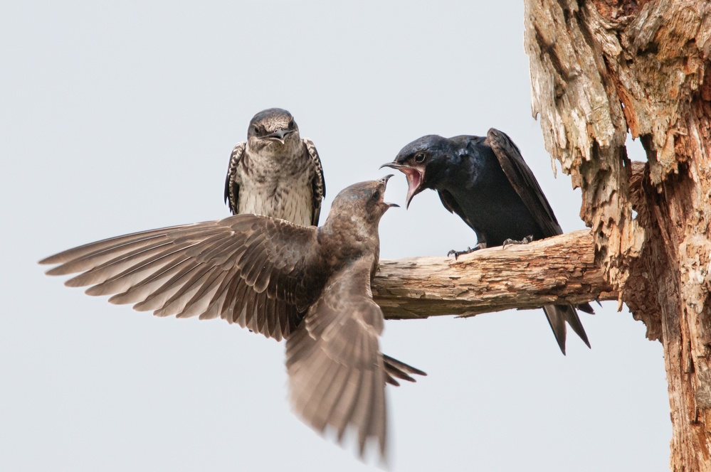
[[[259, 215], [112, 237], [60, 252], [40, 264], [49, 275], [81, 272], [67, 286], [113, 295], [156, 316], [224, 318], [280, 340], [312, 301], [320, 270], [316, 228]], [[311, 270], [314, 269], [314, 270]]]

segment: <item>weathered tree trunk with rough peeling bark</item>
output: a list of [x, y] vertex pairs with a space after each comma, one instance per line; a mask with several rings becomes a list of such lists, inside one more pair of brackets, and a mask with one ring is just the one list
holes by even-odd
[[582, 188], [606, 279], [664, 346], [671, 468], [711, 471], [711, 4], [525, 4], [547, 149]]

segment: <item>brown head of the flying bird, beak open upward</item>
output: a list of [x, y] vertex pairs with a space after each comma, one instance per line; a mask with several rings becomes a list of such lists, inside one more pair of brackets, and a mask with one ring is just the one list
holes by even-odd
[[354, 183], [336, 195], [331, 204], [331, 214], [348, 215], [351, 220], [364, 220], [369, 225], [378, 225], [380, 218], [395, 203], [383, 200], [385, 188], [392, 174], [377, 181]]

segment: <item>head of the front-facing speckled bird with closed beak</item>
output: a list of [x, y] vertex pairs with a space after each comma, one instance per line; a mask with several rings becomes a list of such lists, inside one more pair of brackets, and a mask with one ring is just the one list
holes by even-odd
[[281, 108], [262, 110], [249, 122], [247, 142], [253, 151], [271, 148], [274, 151], [300, 145], [299, 127], [294, 117]]

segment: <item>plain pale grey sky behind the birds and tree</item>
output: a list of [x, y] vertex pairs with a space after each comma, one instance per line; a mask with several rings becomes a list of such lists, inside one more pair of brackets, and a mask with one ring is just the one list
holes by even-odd
[[[373, 468], [290, 412], [283, 345], [112, 306], [36, 261], [225, 217], [230, 151], [268, 107], [315, 141], [325, 210], [423, 134], [497, 127], [581, 229], [531, 117], [522, 37], [521, 1], [6, 2], [0, 470]], [[388, 200], [405, 193], [396, 176]], [[382, 258], [475, 242], [432, 191], [380, 230]], [[383, 350], [429, 374], [388, 387], [391, 469], [668, 470], [662, 347], [616, 304], [597, 311], [581, 314], [593, 348], [572, 335], [566, 357], [539, 310], [387, 322]]]

